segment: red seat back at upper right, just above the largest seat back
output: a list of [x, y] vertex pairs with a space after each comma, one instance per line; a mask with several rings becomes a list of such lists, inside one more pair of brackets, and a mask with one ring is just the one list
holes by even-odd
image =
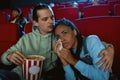
[[107, 4], [90, 5], [83, 8], [83, 17], [108, 16], [109, 6]]

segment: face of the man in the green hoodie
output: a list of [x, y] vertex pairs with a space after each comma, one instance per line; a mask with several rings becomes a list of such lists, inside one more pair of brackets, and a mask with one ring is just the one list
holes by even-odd
[[49, 9], [42, 9], [37, 11], [38, 22], [36, 22], [36, 26], [38, 26], [40, 33], [45, 35], [48, 32], [51, 32], [53, 29], [54, 16]]

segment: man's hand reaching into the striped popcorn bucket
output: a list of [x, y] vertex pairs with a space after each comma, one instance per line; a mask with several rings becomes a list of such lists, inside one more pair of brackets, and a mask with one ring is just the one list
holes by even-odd
[[7, 56], [7, 59], [16, 65], [22, 65], [22, 63], [23, 63], [24, 59], [26, 59], [26, 57], [19, 51], [16, 51], [16, 52], [9, 54]]

